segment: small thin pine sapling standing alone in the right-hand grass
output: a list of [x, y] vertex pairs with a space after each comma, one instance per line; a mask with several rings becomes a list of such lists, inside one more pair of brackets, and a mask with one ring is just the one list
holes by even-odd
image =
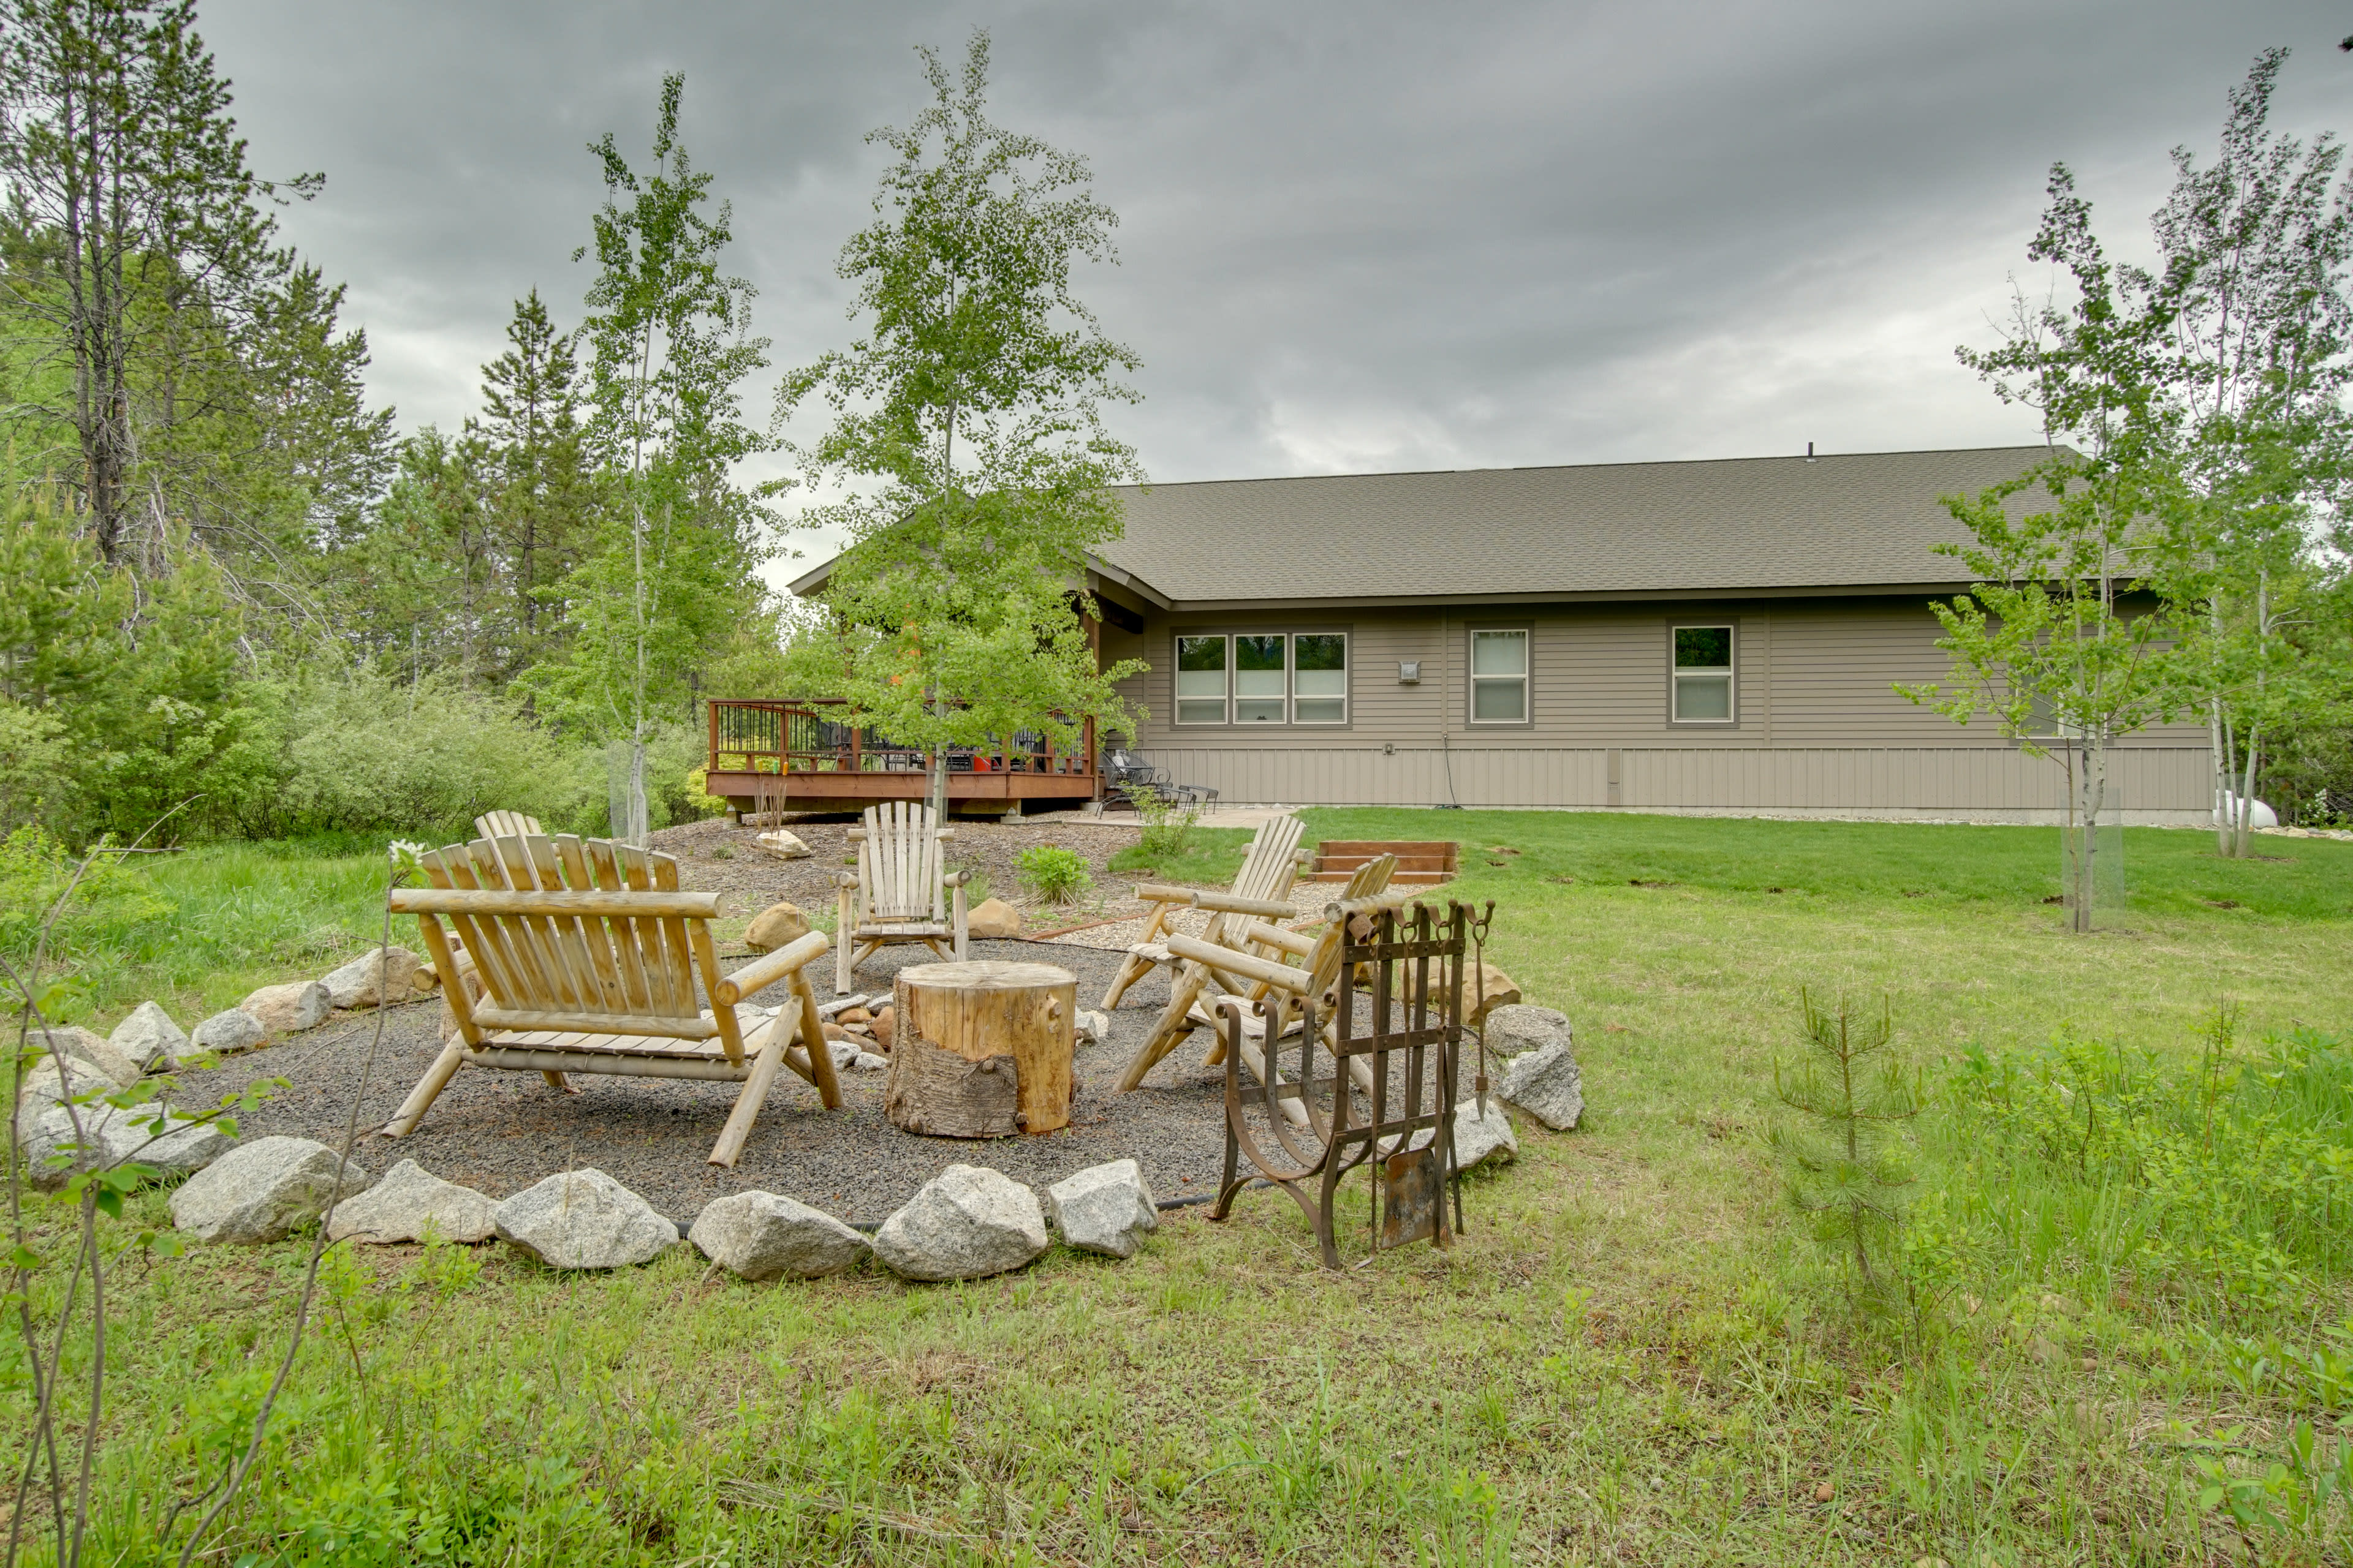
[[1871, 1255], [1904, 1225], [1911, 1201], [1911, 1166], [1894, 1128], [1920, 1114], [1920, 1079], [1904, 1063], [1882, 1056], [1894, 1044], [1894, 1009], [1880, 1004], [1875, 1018], [1857, 1018], [1840, 997], [1833, 1011], [1805, 1009], [1805, 1058], [1772, 1067], [1774, 1098], [1798, 1112], [1798, 1121], [1772, 1131], [1788, 1199], [1814, 1218], [1824, 1246], [1852, 1248], [1866, 1288], [1878, 1288]]

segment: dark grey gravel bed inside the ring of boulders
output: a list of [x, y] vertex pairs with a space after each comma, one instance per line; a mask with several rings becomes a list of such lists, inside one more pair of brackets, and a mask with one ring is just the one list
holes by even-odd
[[[791, 870], [788, 863], [769, 865]], [[708, 886], [701, 877], [692, 884]], [[1118, 964], [1115, 952], [1064, 943], [972, 943], [972, 957], [1059, 964], [1078, 976], [1080, 1006], [1101, 999]], [[889, 990], [901, 964], [920, 961], [932, 961], [922, 947], [885, 947], [859, 969], [856, 985]], [[680, 1222], [715, 1197], [753, 1187], [784, 1192], [845, 1220], [882, 1220], [951, 1164], [993, 1166], [1042, 1190], [1073, 1171], [1132, 1157], [1162, 1201], [1214, 1192], [1224, 1161], [1224, 1070], [1200, 1065], [1207, 1034], [1169, 1053], [1136, 1093], [1111, 1088], [1167, 994], [1167, 971], [1129, 990], [1111, 1016], [1111, 1037], [1078, 1053], [1071, 1126], [1038, 1138], [918, 1138], [882, 1119], [882, 1072], [845, 1072], [845, 1107], [838, 1114], [828, 1114], [800, 1077], [784, 1072], [744, 1159], [720, 1171], [704, 1161], [734, 1105], [734, 1084], [576, 1074], [579, 1093], [567, 1095], [529, 1072], [461, 1067], [409, 1138], [362, 1135], [355, 1154], [374, 1173], [414, 1159], [433, 1175], [492, 1197], [520, 1192], [558, 1171], [595, 1166]], [[779, 1004], [784, 990], [762, 992], [760, 1001]], [[433, 1063], [440, 1051], [438, 1016], [440, 1004], [386, 1013], [384, 1046], [360, 1105], [362, 1131], [384, 1126]], [[259, 1112], [240, 1119], [240, 1131], [339, 1143], [374, 1023], [372, 1013], [339, 1016], [311, 1034], [228, 1058], [212, 1072], [184, 1074], [188, 1100], [209, 1103], [254, 1079], [289, 1079]]]

